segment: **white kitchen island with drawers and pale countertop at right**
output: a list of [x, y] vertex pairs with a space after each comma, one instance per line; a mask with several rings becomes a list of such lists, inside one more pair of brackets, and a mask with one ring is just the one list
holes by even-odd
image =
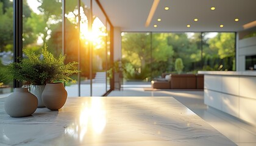
[[204, 103], [256, 125], [255, 71], [199, 71], [204, 74]]

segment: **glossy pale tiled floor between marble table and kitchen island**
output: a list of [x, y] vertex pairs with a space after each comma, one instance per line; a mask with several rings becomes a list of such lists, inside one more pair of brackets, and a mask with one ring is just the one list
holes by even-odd
[[147, 90], [150, 85], [125, 85], [108, 96], [171, 96], [183, 103], [231, 141], [241, 146], [256, 145], [256, 127], [204, 105], [204, 91]]

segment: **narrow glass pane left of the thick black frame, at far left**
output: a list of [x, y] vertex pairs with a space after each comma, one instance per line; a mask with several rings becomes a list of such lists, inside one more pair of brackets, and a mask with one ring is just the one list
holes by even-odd
[[13, 62], [13, 2], [0, 1], [0, 98], [10, 94], [13, 80], [3, 74], [6, 64]]

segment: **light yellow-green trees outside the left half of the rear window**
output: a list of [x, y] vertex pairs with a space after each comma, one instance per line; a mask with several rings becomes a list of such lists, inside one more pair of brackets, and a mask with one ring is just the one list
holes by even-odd
[[[172, 46], [168, 45], [166, 40], [168, 36], [169, 33], [154, 33], [153, 35], [150, 33], [124, 33], [122, 54], [124, 60], [127, 61], [125, 77], [144, 80], [151, 76], [151, 71], [154, 75], [158, 74], [157, 71], [160, 69], [169, 70], [170, 58], [174, 55], [174, 51]], [[163, 68], [163, 63], [166, 63], [167, 68]]]

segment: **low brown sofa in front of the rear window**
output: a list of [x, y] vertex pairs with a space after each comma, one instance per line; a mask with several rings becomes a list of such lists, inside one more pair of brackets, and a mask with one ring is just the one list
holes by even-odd
[[204, 75], [171, 74], [169, 80], [158, 78], [151, 86], [156, 89], [204, 89]]

